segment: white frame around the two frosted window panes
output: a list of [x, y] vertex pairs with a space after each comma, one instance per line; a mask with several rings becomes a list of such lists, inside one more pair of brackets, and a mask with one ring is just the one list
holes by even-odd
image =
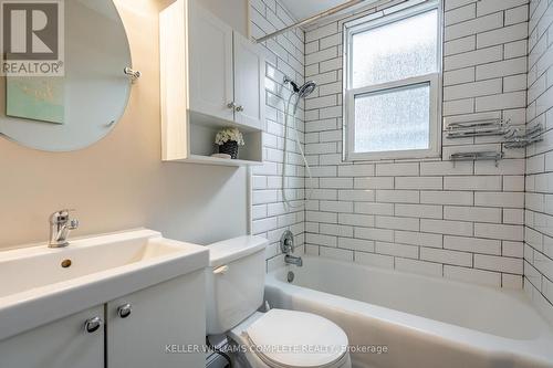
[[[438, 11], [437, 24], [437, 65], [438, 71], [426, 75], [408, 77], [404, 80], [386, 82], [358, 88], [348, 88], [352, 85], [352, 43], [353, 36], [375, 28], [390, 24], [404, 19], [416, 17], [418, 14], [428, 12], [436, 9]], [[442, 76], [442, 48], [444, 48], [444, 11], [441, 1], [431, 0], [425, 3], [414, 4], [408, 8], [401, 7], [400, 10], [392, 13], [378, 12], [376, 14], [364, 15], [351, 21], [343, 25], [344, 36], [344, 75], [343, 75], [343, 103], [344, 103], [344, 157], [345, 161], [371, 161], [371, 160], [386, 160], [386, 159], [421, 159], [421, 158], [437, 158], [441, 156], [441, 76]], [[388, 150], [377, 153], [357, 153], [355, 151], [355, 98], [366, 94], [375, 94], [378, 92], [386, 93], [389, 91], [400, 91], [414, 85], [429, 84], [430, 85], [430, 137], [428, 149], [408, 149], [408, 150]]]

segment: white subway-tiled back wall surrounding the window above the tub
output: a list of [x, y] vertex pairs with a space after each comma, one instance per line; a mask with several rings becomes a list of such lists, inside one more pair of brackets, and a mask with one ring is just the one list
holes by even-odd
[[[530, 6], [533, 18], [540, 12], [551, 23], [552, 1], [549, 17], [547, 0], [539, 2]], [[361, 14], [383, 17], [401, 7], [405, 1], [380, 1], [376, 8], [317, 24], [305, 33], [305, 78], [319, 84], [305, 103], [304, 117], [305, 151], [315, 186], [305, 211], [306, 251], [405, 272], [521, 288], [524, 149], [505, 150], [505, 159], [497, 167], [482, 161], [453, 165], [449, 160], [452, 153], [499, 151], [503, 148], [501, 138], [444, 137], [441, 160], [342, 161], [343, 23]], [[481, 118], [505, 118], [524, 125], [529, 0], [445, 0], [445, 11], [444, 125]], [[530, 57], [539, 87], [529, 93], [535, 95], [529, 120], [549, 116], [553, 127], [553, 114], [547, 115], [544, 106], [547, 96], [550, 107], [553, 99], [553, 93], [545, 92], [547, 83], [551, 86], [553, 82], [551, 70], [547, 73], [553, 53], [551, 48], [546, 51], [553, 33], [547, 32], [549, 24], [535, 21], [531, 27], [531, 45], [544, 56]], [[535, 155], [541, 159], [529, 166], [535, 172], [534, 181], [540, 178], [541, 186], [551, 192], [553, 174], [547, 176], [546, 168], [547, 164], [550, 170], [553, 168], [553, 130], [547, 138], [550, 150], [545, 143], [536, 146], [529, 159]], [[553, 217], [546, 209], [549, 204], [553, 214], [553, 196], [549, 198], [543, 190], [536, 190], [541, 193], [535, 199], [538, 208], [528, 209], [526, 218], [532, 218], [530, 228], [535, 231], [550, 225], [553, 232]], [[538, 261], [526, 259], [536, 272], [542, 270], [535, 287], [543, 298], [553, 290], [553, 238], [547, 240], [549, 248], [544, 238], [541, 234], [541, 245], [533, 249]], [[532, 250], [530, 245], [526, 249]], [[550, 278], [544, 275], [546, 271]], [[550, 281], [549, 288], [542, 285], [543, 280]]]

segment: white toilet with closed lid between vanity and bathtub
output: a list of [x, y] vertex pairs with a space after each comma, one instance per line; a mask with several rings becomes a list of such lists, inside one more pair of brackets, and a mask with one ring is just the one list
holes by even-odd
[[351, 368], [347, 336], [311, 313], [263, 305], [267, 239], [240, 236], [209, 246], [207, 334], [226, 334], [234, 368]]

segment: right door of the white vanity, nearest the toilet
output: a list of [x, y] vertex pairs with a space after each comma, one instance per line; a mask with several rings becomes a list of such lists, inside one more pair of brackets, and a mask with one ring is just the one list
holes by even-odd
[[205, 367], [205, 287], [202, 270], [109, 302], [107, 367]]

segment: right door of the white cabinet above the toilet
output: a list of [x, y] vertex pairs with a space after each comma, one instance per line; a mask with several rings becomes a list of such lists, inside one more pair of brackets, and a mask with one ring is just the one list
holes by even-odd
[[264, 128], [265, 59], [251, 41], [234, 32], [234, 120]]

